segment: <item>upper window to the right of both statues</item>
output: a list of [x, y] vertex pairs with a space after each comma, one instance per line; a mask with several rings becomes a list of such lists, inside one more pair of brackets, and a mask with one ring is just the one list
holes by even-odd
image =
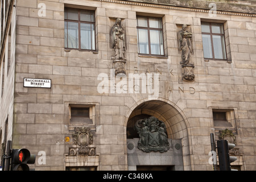
[[201, 23], [205, 59], [226, 60], [225, 35], [222, 23]]

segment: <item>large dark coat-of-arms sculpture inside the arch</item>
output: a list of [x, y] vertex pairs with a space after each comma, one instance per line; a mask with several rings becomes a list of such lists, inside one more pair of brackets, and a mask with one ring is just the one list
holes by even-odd
[[139, 133], [138, 148], [143, 152], [168, 151], [169, 142], [166, 126], [155, 117], [139, 119], [135, 127]]

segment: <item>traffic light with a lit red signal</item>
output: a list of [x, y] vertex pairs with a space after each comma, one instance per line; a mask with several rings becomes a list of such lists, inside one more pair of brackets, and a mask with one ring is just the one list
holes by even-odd
[[35, 155], [26, 148], [11, 150], [11, 171], [29, 171], [27, 164], [35, 163]]

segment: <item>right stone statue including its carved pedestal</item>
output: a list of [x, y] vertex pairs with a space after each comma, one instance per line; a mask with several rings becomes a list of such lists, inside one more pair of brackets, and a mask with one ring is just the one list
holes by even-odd
[[181, 68], [182, 78], [185, 81], [193, 81], [195, 75], [193, 68], [195, 67], [192, 63], [189, 63], [192, 54], [192, 33], [187, 31], [187, 24], [183, 24], [182, 29], [179, 31], [179, 43], [181, 52]]

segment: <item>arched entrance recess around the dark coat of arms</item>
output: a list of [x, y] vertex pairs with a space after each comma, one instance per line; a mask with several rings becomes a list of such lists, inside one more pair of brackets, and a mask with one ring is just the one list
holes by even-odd
[[[134, 109], [131, 108], [127, 117], [127, 158], [129, 170], [189, 170], [191, 160], [189, 152], [188, 123], [182, 111], [168, 101], [150, 100], [142, 101]], [[136, 130], [138, 121], [144, 122], [144, 118], [155, 117], [159, 123], [164, 123], [164, 128], [168, 136], [170, 149], [165, 152], [160, 150], [142, 151], [138, 147], [140, 135]], [[145, 125], [145, 124], [144, 124]], [[160, 125], [156, 126], [160, 127]], [[148, 126], [149, 128], [149, 126]], [[150, 130], [150, 129], [149, 129]], [[157, 130], [156, 130], [157, 131]], [[152, 133], [148, 131], [148, 140]], [[158, 133], [155, 132], [154, 135]], [[160, 132], [159, 132], [160, 134]], [[158, 136], [156, 136], [157, 138]], [[152, 141], [152, 137], [151, 137]], [[157, 143], [157, 142], [156, 142]], [[152, 150], [150, 148], [150, 150]]]

